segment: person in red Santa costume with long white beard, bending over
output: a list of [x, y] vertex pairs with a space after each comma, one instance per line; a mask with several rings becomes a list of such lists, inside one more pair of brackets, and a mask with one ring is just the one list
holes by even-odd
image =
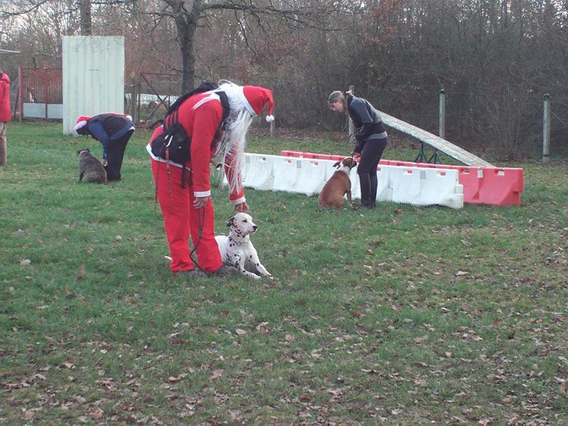
[[[229, 116], [222, 123], [223, 108], [218, 92], [229, 101]], [[189, 237], [197, 253], [198, 267], [207, 274], [238, 273], [221, 260], [214, 234], [214, 209], [209, 182], [209, 163], [218, 158], [229, 182], [229, 201], [236, 212], [246, 212], [241, 168], [244, 165], [246, 132], [253, 116], [260, 115], [268, 103], [266, 121], [273, 121], [274, 102], [269, 89], [239, 86], [222, 80], [217, 89], [192, 95], [180, 104], [178, 119], [191, 138], [190, 160], [185, 165], [164, 160], [151, 151], [153, 139], [163, 132], [155, 129], [146, 147], [151, 155], [152, 172], [158, 202], [164, 217], [165, 234], [170, 249], [174, 274], [203, 275], [191, 258]], [[224, 129], [221, 135], [217, 129]], [[182, 174], [182, 167], [185, 173]], [[185, 187], [181, 185], [185, 175]]]

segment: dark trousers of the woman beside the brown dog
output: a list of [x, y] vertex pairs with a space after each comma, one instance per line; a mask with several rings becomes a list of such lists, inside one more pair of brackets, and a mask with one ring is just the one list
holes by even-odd
[[366, 141], [361, 151], [357, 175], [361, 187], [361, 205], [373, 207], [377, 198], [377, 166], [383, 156], [388, 138]]

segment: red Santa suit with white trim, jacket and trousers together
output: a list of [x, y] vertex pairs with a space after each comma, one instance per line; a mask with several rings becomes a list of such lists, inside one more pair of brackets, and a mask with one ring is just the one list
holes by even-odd
[[[209, 163], [217, 152], [213, 139], [222, 121], [223, 108], [217, 94], [205, 92], [189, 97], [180, 105], [178, 112], [180, 124], [191, 138], [190, 160], [185, 164], [185, 187], [182, 187], [182, 165], [156, 157], [152, 154], [151, 144], [146, 146], [152, 158], [154, 182], [164, 216], [172, 258], [170, 268], [174, 273], [195, 268], [188, 244], [191, 235], [197, 263], [204, 271], [213, 272], [223, 264], [215, 241], [213, 204], [209, 198], [204, 208], [196, 209], [193, 200], [211, 195]], [[162, 132], [162, 127], [158, 127], [151, 139]], [[230, 180], [233, 168], [231, 158], [227, 157], [226, 173]], [[244, 191], [231, 192], [229, 200], [233, 205], [241, 204], [245, 201]]]

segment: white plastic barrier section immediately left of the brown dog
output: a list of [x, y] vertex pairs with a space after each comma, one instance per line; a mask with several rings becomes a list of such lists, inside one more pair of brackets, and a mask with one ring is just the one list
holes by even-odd
[[273, 162], [274, 191], [314, 195], [327, 181], [327, 165], [312, 158], [280, 157]]

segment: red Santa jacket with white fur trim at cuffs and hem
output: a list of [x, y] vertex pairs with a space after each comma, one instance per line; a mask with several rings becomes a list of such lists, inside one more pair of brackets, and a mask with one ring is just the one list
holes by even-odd
[[[183, 102], [179, 109], [179, 121], [185, 129], [187, 136], [191, 138], [190, 161], [187, 167], [192, 170], [192, 184], [195, 197], [209, 197], [211, 195], [211, 185], [209, 182], [209, 163], [211, 158], [217, 152], [218, 146], [212, 147], [212, 141], [215, 132], [221, 124], [223, 116], [223, 107], [219, 96], [211, 92], [195, 94]], [[162, 127], [155, 129], [151, 140], [163, 132]], [[154, 160], [162, 161], [163, 158], [156, 157], [152, 154], [151, 144], [148, 143], [146, 150], [150, 153]], [[233, 168], [231, 167], [231, 157], [226, 158], [227, 178], [231, 180]], [[182, 167], [181, 164], [171, 163], [176, 167]], [[229, 194], [231, 204], [241, 204], [245, 201], [244, 190], [231, 192]]]

